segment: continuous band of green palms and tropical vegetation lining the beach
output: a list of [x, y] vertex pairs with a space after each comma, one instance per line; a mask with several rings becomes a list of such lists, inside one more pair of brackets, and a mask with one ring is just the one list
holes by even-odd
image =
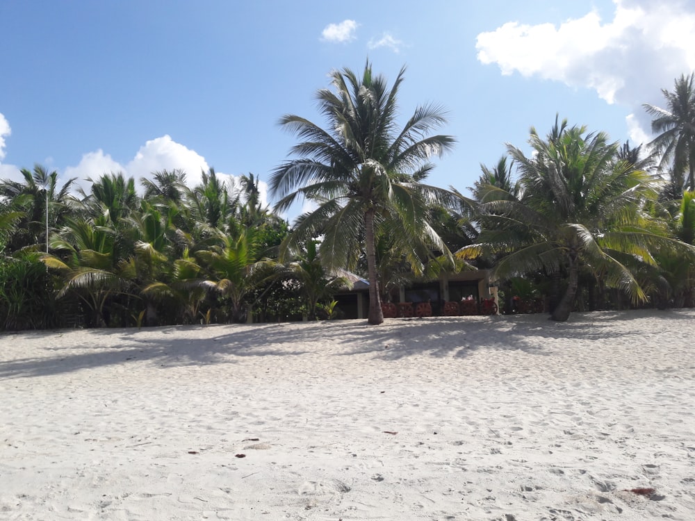
[[[317, 320], [341, 315], [349, 278], [366, 279], [368, 322], [399, 288], [489, 270], [554, 320], [572, 311], [695, 306], [695, 73], [646, 105], [655, 139], [612, 142], [556, 118], [481, 165], [469, 195], [426, 183], [455, 144], [446, 112], [400, 120], [404, 69], [389, 85], [367, 62], [318, 90], [320, 124], [270, 172], [180, 169], [136, 180], [95, 172], [78, 189], [41, 165], [0, 180], [0, 329]], [[293, 223], [282, 213], [304, 199]]]

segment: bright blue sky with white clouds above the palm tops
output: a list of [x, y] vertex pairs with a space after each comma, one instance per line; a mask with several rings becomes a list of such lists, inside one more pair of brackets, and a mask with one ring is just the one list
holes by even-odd
[[266, 181], [296, 142], [279, 117], [322, 123], [327, 74], [369, 58], [391, 81], [407, 65], [403, 121], [447, 108], [458, 144], [430, 183], [466, 191], [556, 113], [647, 141], [641, 104], [695, 69], [695, 1], [3, 0], [0, 38], [3, 179], [38, 163], [85, 188], [176, 167]]

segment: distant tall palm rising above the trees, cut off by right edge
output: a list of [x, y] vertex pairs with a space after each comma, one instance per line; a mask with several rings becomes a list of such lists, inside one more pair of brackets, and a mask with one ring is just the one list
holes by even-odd
[[652, 131], [658, 133], [650, 146], [661, 155], [661, 169], [673, 167], [672, 181], [680, 191], [695, 190], [695, 72], [677, 78], [673, 92], [666, 89], [661, 92], [667, 108], [644, 104], [647, 113], [653, 116]]

